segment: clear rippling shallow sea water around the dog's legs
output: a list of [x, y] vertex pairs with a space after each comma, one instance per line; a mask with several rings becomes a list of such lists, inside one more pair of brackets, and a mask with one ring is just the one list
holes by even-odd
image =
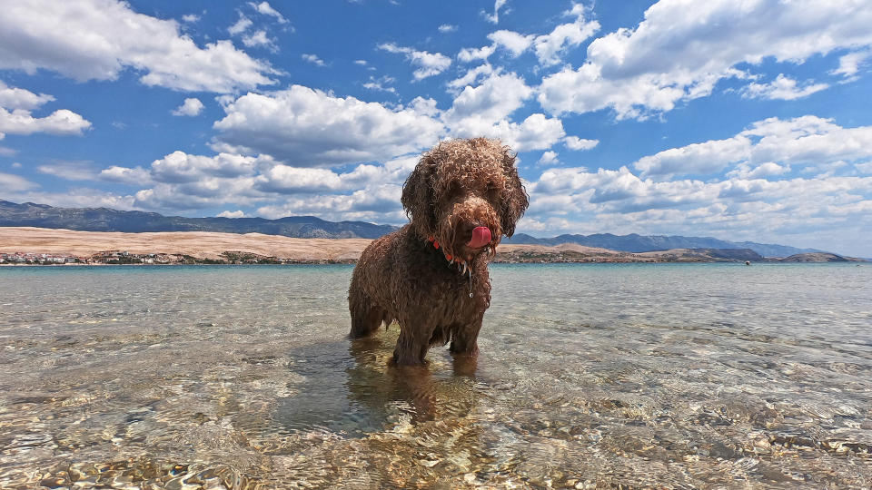
[[872, 485], [872, 266], [491, 266], [477, 365], [348, 266], [0, 268], [0, 487]]

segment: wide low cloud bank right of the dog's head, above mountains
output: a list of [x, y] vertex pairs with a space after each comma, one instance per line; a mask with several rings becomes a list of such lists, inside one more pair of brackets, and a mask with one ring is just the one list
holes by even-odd
[[[769, 118], [726, 140], [643, 157], [633, 164], [636, 171], [546, 169], [527, 186], [524, 226], [858, 250], [872, 229], [870, 148], [869, 126], [845, 128], [816, 116]], [[797, 177], [804, 166], [818, 173]], [[677, 178], [682, 174], [690, 176]], [[815, 243], [799, 242], [809, 237]]]

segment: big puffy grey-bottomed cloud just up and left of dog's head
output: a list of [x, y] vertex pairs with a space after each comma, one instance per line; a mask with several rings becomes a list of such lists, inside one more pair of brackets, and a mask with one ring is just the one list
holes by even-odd
[[301, 85], [247, 93], [227, 102], [214, 123], [216, 148], [269, 154], [293, 166], [383, 161], [429, 148], [444, 134], [435, 103], [416, 99], [389, 109]]

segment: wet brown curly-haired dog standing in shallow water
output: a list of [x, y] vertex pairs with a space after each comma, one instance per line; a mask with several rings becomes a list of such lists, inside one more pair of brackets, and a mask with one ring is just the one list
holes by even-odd
[[420, 365], [431, 346], [474, 356], [490, 306], [488, 261], [527, 209], [515, 155], [497, 140], [441, 142], [411, 172], [401, 202], [411, 222], [363, 250], [348, 306], [352, 338], [396, 319], [393, 360]]

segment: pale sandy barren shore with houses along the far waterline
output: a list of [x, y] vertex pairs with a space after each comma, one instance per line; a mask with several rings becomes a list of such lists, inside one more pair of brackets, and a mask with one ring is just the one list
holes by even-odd
[[[163, 231], [125, 233], [0, 227], [0, 266], [176, 264], [353, 264], [369, 239], [290, 238], [260, 233]], [[15, 263], [9, 263], [15, 261]], [[503, 243], [491, 263], [759, 263], [857, 261], [835, 254], [764, 258], [748, 249], [645, 252]], [[4, 263], [5, 262], [5, 263]], [[27, 264], [26, 262], [29, 262]], [[43, 262], [43, 263], [35, 263]], [[45, 263], [50, 262], [50, 263]]]

